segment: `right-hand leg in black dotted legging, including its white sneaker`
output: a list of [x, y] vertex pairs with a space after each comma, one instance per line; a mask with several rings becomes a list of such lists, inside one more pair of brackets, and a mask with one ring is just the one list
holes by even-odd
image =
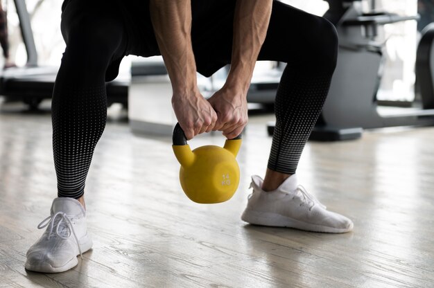
[[252, 177], [253, 193], [242, 219], [250, 224], [345, 233], [350, 219], [328, 211], [298, 186], [298, 161], [327, 97], [336, 66], [337, 35], [325, 19], [275, 2], [259, 60], [287, 66], [275, 100], [276, 128], [264, 181]]

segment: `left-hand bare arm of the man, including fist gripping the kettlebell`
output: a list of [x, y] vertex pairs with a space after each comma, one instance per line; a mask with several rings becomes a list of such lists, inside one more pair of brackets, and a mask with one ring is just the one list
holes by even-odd
[[189, 0], [151, 0], [150, 17], [173, 89], [172, 105], [187, 139], [209, 132], [216, 112], [200, 94], [191, 46]]

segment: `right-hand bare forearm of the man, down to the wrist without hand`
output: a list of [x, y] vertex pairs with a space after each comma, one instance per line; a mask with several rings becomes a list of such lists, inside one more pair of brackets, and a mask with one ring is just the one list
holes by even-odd
[[232, 62], [226, 85], [247, 93], [266, 38], [272, 0], [238, 0], [234, 15]]

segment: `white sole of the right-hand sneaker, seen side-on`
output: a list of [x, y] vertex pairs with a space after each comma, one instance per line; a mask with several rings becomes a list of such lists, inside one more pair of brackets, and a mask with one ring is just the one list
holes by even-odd
[[296, 228], [304, 231], [322, 232], [322, 233], [346, 233], [353, 230], [353, 224], [347, 228], [333, 228], [329, 226], [315, 225], [306, 222], [301, 222], [297, 219], [269, 212], [258, 212], [255, 210], [246, 209], [241, 215], [241, 219], [249, 224], [272, 226], [272, 227], [287, 227]]

